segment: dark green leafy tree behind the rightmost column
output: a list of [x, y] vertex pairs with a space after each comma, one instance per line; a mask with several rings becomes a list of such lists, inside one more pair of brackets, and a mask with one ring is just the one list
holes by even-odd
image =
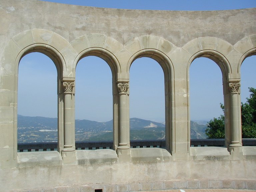
[[[249, 87], [250, 97], [241, 103], [242, 138], [256, 138], [256, 89]], [[224, 105], [220, 104], [224, 112]], [[225, 138], [224, 115], [211, 119], [207, 124], [205, 133], [208, 139]]]

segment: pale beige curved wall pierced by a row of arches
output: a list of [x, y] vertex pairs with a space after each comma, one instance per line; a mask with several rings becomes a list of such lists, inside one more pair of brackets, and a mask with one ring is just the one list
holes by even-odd
[[[150, 165], [149, 162], [160, 158], [162, 161], [158, 165], [169, 167], [167, 170], [174, 169], [172, 166], [177, 164], [176, 160], [183, 161], [191, 170], [191, 175], [185, 174], [183, 180], [191, 180], [194, 177], [202, 179], [203, 175], [206, 180], [224, 180], [221, 177], [226, 166], [222, 163], [224, 159], [228, 164], [228, 172], [225, 174], [227, 177], [230, 176], [230, 180], [255, 179], [255, 172], [251, 170], [256, 167], [256, 148], [241, 146], [240, 94], [239, 89], [230, 87], [233, 83], [240, 83], [242, 61], [256, 52], [255, 16], [256, 8], [228, 11], [144, 11], [81, 7], [37, 0], [0, 0], [0, 173], [8, 175], [1, 178], [0, 184], [4, 184], [6, 179], [20, 180], [26, 174], [33, 175], [33, 172], [40, 169], [39, 165], [51, 164], [39, 158], [43, 155], [49, 159], [46, 153], [36, 153], [33, 157], [27, 153], [17, 154], [18, 65], [24, 55], [35, 51], [49, 56], [58, 71], [59, 152], [54, 153], [57, 160], [51, 165], [58, 171], [46, 171], [50, 175], [53, 174], [52, 177], [66, 169], [70, 172], [73, 169], [68, 168], [70, 164], [73, 164], [77, 177], [84, 177], [83, 173], [77, 170], [81, 166], [79, 162], [83, 162], [81, 159], [89, 152], [79, 153], [79, 156], [75, 151], [75, 92], [72, 88], [65, 90], [63, 82], [75, 83], [77, 62], [85, 56], [94, 55], [109, 64], [113, 76], [113, 146], [116, 152], [106, 152], [107, 156], [112, 154], [115, 159], [115, 164], [111, 164], [111, 169], [115, 171], [110, 174], [118, 174], [121, 162], [126, 162], [125, 166], [133, 170], [135, 168], [131, 162], [137, 161], [147, 161], [146, 165], [141, 164], [141, 169], [143, 174], [148, 174], [146, 169], [147, 165]], [[139, 57], [155, 59], [164, 71], [167, 146], [165, 151], [134, 151], [129, 148], [129, 88], [120, 91], [117, 84], [128, 83], [129, 86], [130, 66]], [[199, 150], [190, 147], [189, 67], [197, 57], [214, 60], [222, 71], [226, 148]], [[69, 115], [67, 117], [64, 114]], [[88, 161], [101, 159], [98, 155], [95, 153]], [[36, 163], [33, 163], [33, 158], [36, 159]], [[248, 158], [252, 160], [247, 164]], [[27, 160], [26, 163], [23, 162], [24, 159]], [[215, 163], [212, 163], [212, 159]], [[243, 170], [235, 168], [239, 163], [233, 162], [233, 159], [245, 165]], [[202, 163], [209, 161], [209, 169], [219, 165], [216, 171], [221, 173], [220, 178], [205, 174], [206, 169], [197, 170], [193, 167], [194, 164], [200, 165], [201, 161], [197, 160], [203, 160]], [[166, 161], [168, 163], [165, 163]], [[100, 163], [104, 162], [109, 163], [103, 158]], [[22, 166], [26, 168], [21, 168]], [[33, 168], [27, 168], [30, 166]], [[92, 167], [86, 164], [83, 165], [83, 169], [92, 170]], [[138, 180], [154, 182], [179, 179], [170, 175], [167, 170], [163, 171], [161, 168], [163, 174], [159, 175], [156, 170], [154, 174], [157, 174], [158, 178], [154, 176], [150, 180], [139, 177]], [[175, 171], [176, 175], [184, 174], [182, 165], [177, 165]], [[129, 174], [133, 176], [135, 173]], [[63, 177], [62, 181], [50, 186], [66, 185], [68, 176], [64, 174]], [[120, 182], [105, 179], [101, 179], [100, 182], [133, 182], [131, 178], [121, 177]], [[27, 182], [33, 179], [30, 176], [27, 178]], [[96, 176], [92, 181], [79, 181], [74, 184], [93, 183], [97, 183]], [[46, 187], [46, 180], [30, 187], [37, 186]], [[18, 189], [17, 187], [18, 185], [14, 189]]]

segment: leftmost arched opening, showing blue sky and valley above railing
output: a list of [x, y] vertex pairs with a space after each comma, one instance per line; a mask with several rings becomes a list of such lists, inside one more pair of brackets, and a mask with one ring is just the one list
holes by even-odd
[[18, 143], [57, 142], [57, 70], [38, 52], [25, 55], [18, 71]]

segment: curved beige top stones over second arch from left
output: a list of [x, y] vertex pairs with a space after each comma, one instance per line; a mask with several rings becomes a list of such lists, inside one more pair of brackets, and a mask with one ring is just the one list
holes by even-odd
[[98, 33], [80, 36], [71, 41], [70, 45], [78, 54], [88, 48], [99, 47], [115, 55], [123, 48], [123, 45], [116, 39]]

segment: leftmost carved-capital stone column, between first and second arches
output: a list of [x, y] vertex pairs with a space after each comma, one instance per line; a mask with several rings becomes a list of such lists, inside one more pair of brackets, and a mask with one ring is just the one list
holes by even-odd
[[75, 124], [74, 124], [74, 79], [63, 79], [63, 94], [64, 94], [64, 147], [62, 149], [62, 158], [64, 163], [76, 161], [75, 156]]

